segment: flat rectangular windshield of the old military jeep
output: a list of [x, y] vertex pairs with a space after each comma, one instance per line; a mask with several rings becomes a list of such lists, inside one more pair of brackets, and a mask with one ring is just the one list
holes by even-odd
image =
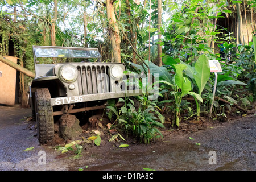
[[35, 64], [56, 64], [81, 61], [99, 61], [97, 48], [33, 46]]

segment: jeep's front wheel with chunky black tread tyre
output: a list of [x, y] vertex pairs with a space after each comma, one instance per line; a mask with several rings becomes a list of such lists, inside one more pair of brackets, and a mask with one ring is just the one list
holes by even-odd
[[53, 109], [50, 100], [51, 94], [47, 88], [36, 89], [35, 115], [40, 143], [49, 142], [53, 140], [54, 136]]

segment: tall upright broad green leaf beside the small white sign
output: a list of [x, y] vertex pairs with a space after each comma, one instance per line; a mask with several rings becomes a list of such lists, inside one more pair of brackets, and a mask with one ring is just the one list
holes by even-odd
[[195, 78], [199, 94], [201, 95], [204, 90], [204, 86], [210, 77], [210, 65], [206, 55], [201, 55], [199, 59], [197, 59], [195, 64], [195, 73], [193, 76]]

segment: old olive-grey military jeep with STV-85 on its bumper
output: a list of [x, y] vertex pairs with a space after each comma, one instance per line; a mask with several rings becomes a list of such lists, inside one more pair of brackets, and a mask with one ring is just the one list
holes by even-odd
[[30, 104], [40, 143], [53, 140], [54, 122], [62, 114], [104, 109], [109, 99], [139, 94], [123, 84], [125, 64], [102, 63], [97, 48], [33, 46], [33, 53]]

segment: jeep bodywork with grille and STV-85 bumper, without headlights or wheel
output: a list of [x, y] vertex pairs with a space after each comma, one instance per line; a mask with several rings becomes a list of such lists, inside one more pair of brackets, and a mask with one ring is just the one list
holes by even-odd
[[[111, 98], [129, 97], [141, 94], [141, 90], [127, 90], [126, 75], [116, 78], [112, 75], [112, 68], [116, 65], [126, 70], [123, 63], [102, 63], [97, 48], [33, 46], [36, 76], [30, 88], [31, 107], [34, 110], [34, 95], [36, 89], [47, 88], [51, 93], [51, 106], [70, 105], [84, 107], [82, 102], [109, 100]], [[44, 64], [42, 59], [47, 60]], [[97, 59], [97, 62], [80, 61], [63, 63], [68, 59]], [[55, 63], [55, 64], [53, 64]], [[61, 76], [65, 67], [76, 70], [74, 80], [68, 81]], [[81, 105], [79, 105], [81, 104]], [[53, 107], [54, 108], [54, 107]], [[61, 108], [61, 107], [59, 107]], [[61, 109], [63, 110], [63, 109]], [[85, 110], [85, 109], [84, 109]], [[55, 110], [56, 113], [60, 109]], [[64, 113], [65, 113], [64, 111]], [[80, 110], [79, 110], [80, 111]], [[54, 115], [57, 115], [57, 114]]]

